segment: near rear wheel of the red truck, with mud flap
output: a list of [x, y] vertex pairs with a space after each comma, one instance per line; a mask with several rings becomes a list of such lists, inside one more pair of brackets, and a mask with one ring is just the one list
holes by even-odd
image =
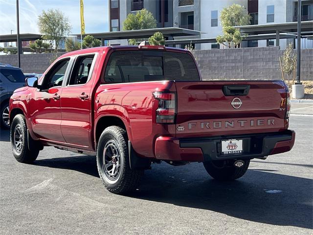
[[127, 133], [118, 126], [107, 127], [97, 147], [97, 167], [104, 186], [113, 193], [136, 189], [144, 170], [130, 168]]

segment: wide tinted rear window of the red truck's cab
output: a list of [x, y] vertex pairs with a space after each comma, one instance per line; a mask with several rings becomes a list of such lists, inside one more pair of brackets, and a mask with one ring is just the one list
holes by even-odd
[[106, 82], [199, 81], [199, 73], [187, 53], [168, 51], [115, 51], [105, 70]]

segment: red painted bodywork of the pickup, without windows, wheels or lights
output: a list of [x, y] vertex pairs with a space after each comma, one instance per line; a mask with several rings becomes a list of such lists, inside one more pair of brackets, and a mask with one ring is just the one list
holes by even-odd
[[[57, 91], [51, 91], [52, 94], [30, 87], [18, 89], [12, 95], [10, 113], [14, 109], [22, 110], [35, 140], [89, 152], [95, 151], [96, 126], [101, 118], [117, 117], [123, 121], [132, 147], [140, 157], [172, 161], [203, 161], [201, 148], [180, 147], [180, 141], [186, 139], [256, 133], [279, 135], [288, 129], [287, 93], [282, 81], [105, 83], [102, 76], [111, 53], [116, 50], [138, 50], [138, 47], [95, 47], [62, 55], [57, 61], [96, 53], [90, 80], [84, 85], [54, 87]], [[166, 50], [190, 53], [178, 48]], [[247, 95], [225, 96], [225, 85], [249, 85], [250, 90]], [[175, 93], [175, 123], [156, 123], [158, 100], [154, 92]], [[55, 93], [60, 99], [52, 98]], [[86, 100], [79, 98], [83, 93], [88, 95]], [[231, 106], [234, 97], [241, 99], [240, 109]], [[292, 135], [289, 141], [277, 142], [271, 154], [290, 150], [294, 138]]]

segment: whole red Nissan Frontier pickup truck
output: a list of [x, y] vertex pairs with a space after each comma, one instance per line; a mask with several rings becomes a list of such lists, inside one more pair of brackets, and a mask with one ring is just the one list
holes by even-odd
[[10, 100], [11, 144], [31, 163], [44, 146], [96, 155], [114, 193], [135, 189], [151, 163], [202, 162], [217, 180], [251, 159], [291, 150], [283, 81], [202, 81], [184, 49], [96, 47], [66, 53]]

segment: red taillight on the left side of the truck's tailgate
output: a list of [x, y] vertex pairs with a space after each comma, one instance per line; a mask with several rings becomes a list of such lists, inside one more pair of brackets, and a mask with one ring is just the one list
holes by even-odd
[[173, 124], [176, 118], [176, 93], [154, 92], [158, 101], [156, 109], [156, 123]]

